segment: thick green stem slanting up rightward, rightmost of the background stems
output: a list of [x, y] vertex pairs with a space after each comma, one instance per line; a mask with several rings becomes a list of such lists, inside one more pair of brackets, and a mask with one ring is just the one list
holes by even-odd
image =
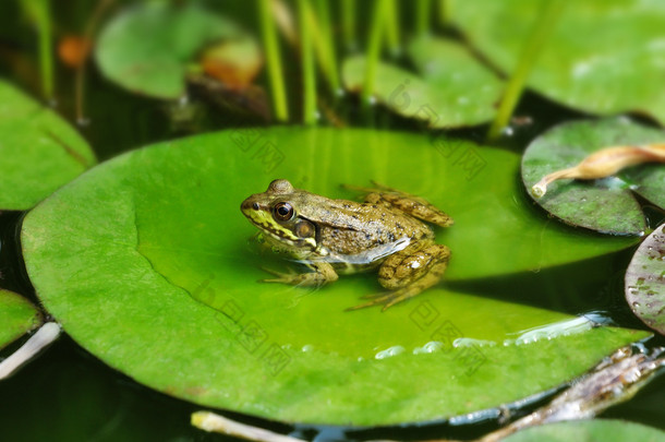
[[504, 92], [496, 117], [487, 133], [488, 141], [498, 139], [504, 128], [508, 126], [515, 107], [522, 95], [529, 74], [535, 64], [537, 56], [545, 46], [549, 35], [553, 33], [561, 11], [564, 10], [564, 4], [565, 2], [561, 0], [547, 0], [543, 4], [530, 35], [524, 40], [524, 46], [522, 47], [512, 76], [510, 76], [508, 84], [506, 85], [506, 91]]

